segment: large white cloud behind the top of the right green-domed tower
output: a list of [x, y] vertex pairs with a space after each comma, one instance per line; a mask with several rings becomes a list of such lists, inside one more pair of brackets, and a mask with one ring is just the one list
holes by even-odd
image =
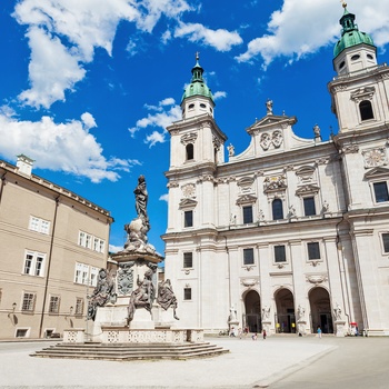
[[[376, 44], [389, 42], [389, 0], [367, 2], [355, 0], [348, 10], [361, 21], [360, 30], [371, 33]], [[340, 36], [338, 20], [342, 8], [328, 0], [285, 0], [282, 8], [271, 14], [268, 33], [248, 43], [247, 51], [236, 57], [239, 62], [261, 58], [265, 68], [278, 57], [289, 63], [333, 44]], [[363, 18], [362, 18], [363, 17]]]

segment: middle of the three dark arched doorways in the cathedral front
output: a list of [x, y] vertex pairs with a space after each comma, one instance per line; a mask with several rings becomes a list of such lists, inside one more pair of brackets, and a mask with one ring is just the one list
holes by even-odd
[[275, 295], [276, 298], [276, 330], [281, 333], [296, 332], [295, 301], [293, 295], [288, 289], [280, 289]]

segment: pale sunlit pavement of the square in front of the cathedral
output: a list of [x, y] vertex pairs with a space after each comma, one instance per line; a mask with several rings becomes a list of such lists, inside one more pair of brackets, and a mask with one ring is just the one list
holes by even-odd
[[0, 388], [388, 388], [389, 338], [207, 341], [231, 352], [187, 361], [114, 362], [32, 358], [30, 352], [48, 343], [0, 342]]

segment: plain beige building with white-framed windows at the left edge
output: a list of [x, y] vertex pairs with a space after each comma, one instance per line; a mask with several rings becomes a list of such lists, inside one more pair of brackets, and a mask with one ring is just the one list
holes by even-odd
[[87, 295], [106, 268], [110, 212], [0, 161], [0, 339], [86, 328]]

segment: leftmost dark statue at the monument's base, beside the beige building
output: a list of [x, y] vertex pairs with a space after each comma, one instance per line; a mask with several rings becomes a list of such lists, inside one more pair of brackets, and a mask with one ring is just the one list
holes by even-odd
[[116, 302], [117, 295], [113, 287], [113, 280], [108, 271], [100, 269], [97, 286], [93, 293], [89, 297], [87, 320], [94, 321], [98, 307], [103, 307], [108, 302]]

